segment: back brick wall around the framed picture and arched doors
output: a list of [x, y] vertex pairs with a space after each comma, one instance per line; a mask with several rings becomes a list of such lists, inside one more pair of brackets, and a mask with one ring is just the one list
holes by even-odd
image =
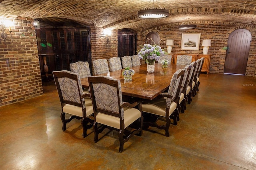
[[[211, 46], [209, 48], [208, 54], [211, 54], [210, 60], [210, 73], [223, 73], [224, 63], [226, 57], [226, 46], [228, 43], [228, 36], [234, 30], [246, 29], [252, 34], [252, 42], [250, 45], [250, 52], [248, 57], [248, 63], [246, 67], [246, 75], [256, 77], [256, 26], [238, 24], [238, 23], [226, 23], [226, 22], [196, 22], [193, 23], [197, 25], [196, 29], [192, 30], [179, 30], [179, 24], [171, 24], [166, 26], [161, 26], [157, 28], [152, 28], [145, 32], [142, 32], [142, 39], [138, 41], [139, 45], [142, 45], [146, 39], [146, 35], [153, 31], [157, 32], [160, 36], [160, 46], [166, 48], [165, 40], [173, 39], [174, 46], [172, 47], [172, 53], [190, 53], [190, 54], [202, 54], [203, 49], [201, 47], [202, 40], [210, 39]], [[181, 37], [182, 33], [201, 33], [200, 48], [199, 51], [181, 50]], [[167, 50], [166, 50], [167, 51]]]

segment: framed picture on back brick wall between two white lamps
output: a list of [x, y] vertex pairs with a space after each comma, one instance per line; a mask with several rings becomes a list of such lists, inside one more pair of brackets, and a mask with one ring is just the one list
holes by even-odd
[[201, 33], [186, 34], [182, 33], [181, 49], [184, 50], [199, 50]]

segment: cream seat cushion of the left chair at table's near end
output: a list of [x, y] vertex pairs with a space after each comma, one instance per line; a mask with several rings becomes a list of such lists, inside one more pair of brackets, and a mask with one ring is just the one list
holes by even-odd
[[[92, 100], [85, 98], [84, 101], [85, 101], [86, 117], [88, 117], [88, 116], [92, 115], [92, 113], [93, 113]], [[82, 107], [65, 104], [62, 109], [63, 109], [64, 113], [83, 117]]]

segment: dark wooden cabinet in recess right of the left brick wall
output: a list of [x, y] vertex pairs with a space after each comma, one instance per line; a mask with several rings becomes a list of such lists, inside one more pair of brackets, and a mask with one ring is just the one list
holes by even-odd
[[87, 28], [36, 30], [41, 74], [70, 70], [69, 64], [77, 61], [88, 61], [91, 66], [89, 34]]

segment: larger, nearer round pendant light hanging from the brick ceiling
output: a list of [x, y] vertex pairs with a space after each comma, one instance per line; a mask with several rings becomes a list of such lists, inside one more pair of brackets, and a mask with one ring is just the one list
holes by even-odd
[[[152, 0], [150, 0], [148, 2], [148, 4], [151, 2]], [[158, 2], [156, 1], [156, 3], [158, 4]], [[166, 8], [161, 8], [161, 6], [158, 4], [159, 7], [155, 7], [155, 0], [153, 0], [153, 7], [152, 8], [148, 8], [148, 5], [142, 9], [138, 11], [138, 18], [141, 19], [162, 19], [162, 18], [166, 18], [169, 16], [169, 10]]]

